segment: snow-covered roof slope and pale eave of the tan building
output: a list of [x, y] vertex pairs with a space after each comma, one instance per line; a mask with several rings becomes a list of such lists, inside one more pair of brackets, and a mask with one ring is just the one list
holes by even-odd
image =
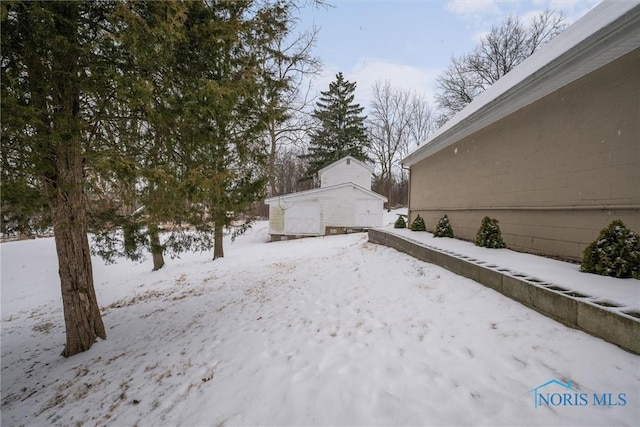
[[605, 1], [504, 75], [402, 160], [419, 161], [640, 47], [640, 2]]

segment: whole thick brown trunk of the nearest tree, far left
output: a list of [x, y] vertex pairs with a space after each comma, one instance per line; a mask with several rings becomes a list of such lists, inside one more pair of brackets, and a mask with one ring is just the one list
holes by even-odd
[[[47, 4], [54, 11], [55, 34], [58, 40], [52, 53], [51, 97], [45, 100], [42, 92], [34, 92], [34, 105], [45, 115], [38, 129], [42, 150], [47, 162], [43, 172], [44, 184], [53, 218], [58, 272], [62, 289], [62, 305], [67, 342], [65, 357], [91, 348], [96, 337], [105, 339], [100, 308], [93, 288], [91, 254], [87, 238], [87, 212], [84, 194], [83, 123], [80, 118], [80, 89], [78, 86], [77, 39], [79, 4], [59, 2]], [[31, 62], [32, 84], [39, 84], [38, 69], [43, 64]], [[40, 87], [40, 86], [38, 86]], [[40, 87], [42, 89], [42, 87]], [[44, 106], [51, 102], [51, 108]], [[51, 114], [51, 119], [48, 118]]]

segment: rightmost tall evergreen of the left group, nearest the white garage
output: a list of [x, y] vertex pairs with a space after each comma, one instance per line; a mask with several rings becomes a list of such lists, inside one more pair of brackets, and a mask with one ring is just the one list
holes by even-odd
[[245, 0], [190, 6], [189, 37], [179, 49], [189, 94], [180, 127], [183, 137], [196, 141], [185, 156], [191, 199], [213, 220], [217, 259], [224, 256], [225, 229], [266, 188], [263, 142], [271, 110], [264, 93], [272, 82], [260, 60], [286, 34], [290, 5]]

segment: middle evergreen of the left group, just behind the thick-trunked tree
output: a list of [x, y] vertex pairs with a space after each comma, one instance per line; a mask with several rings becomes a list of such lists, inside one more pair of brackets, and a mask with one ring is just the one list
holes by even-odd
[[[177, 1], [117, 2], [110, 19], [117, 40], [120, 76], [113, 81], [118, 102], [98, 123], [93, 157], [117, 153], [117, 162], [89, 165], [93, 183], [108, 183], [112, 197], [91, 203], [90, 228], [94, 253], [108, 261], [118, 256], [141, 259], [152, 254], [153, 269], [164, 265], [159, 224], [188, 221], [184, 168], [178, 154], [186, 142], [177, 132], [182, 111], [177, 43], [185, 37], [183, 18], [187, 4]], [[95, 189], [92, 195], [105, 193]], [[122, 229], [124, 239], [120, 243]], [[171, 240], [175, 246], [176, 239]]]

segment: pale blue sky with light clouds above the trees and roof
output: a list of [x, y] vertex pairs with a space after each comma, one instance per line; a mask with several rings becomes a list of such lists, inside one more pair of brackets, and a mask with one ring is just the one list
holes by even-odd
[[[613, 0], [622, 1], [622, 0]], [[299, 30], [320, 27], [314, 50], [324, 66], [314, 89], [327, 90], [338, 71], [357, 83], [356, 100], [369, 103], [371, 86], [389, 80], [432, 102], [436, 77], [452, 55], [470, 52], [479, 37], [508, 15], [531, 19], [546, 7], [575, 22], [598, 0], [329, 0], [305, 7]], [[433, 103], [433, 102], [432, 102]]]

